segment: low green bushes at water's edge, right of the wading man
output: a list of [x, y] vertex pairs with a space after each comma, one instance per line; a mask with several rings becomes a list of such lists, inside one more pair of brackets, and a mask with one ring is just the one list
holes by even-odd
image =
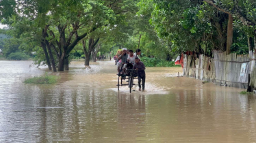
[[175, 65], [174, 61], [166, 61], [164, 59], [142, 57], [140, 60], [146, 67], [181, 67], [181, 65]]

